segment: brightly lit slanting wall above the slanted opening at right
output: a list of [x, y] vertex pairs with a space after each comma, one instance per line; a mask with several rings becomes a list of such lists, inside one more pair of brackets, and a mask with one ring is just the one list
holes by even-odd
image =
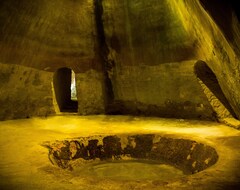
[[[232, 12], [227, 17], [225, 14], [228, 19], [221, 20], [223, 15], [219, 13], [217, 17], [206, 4], [199, 1], [169, 0], [169, 3], [188, 33], [197, 39], [197, 58], [205, 61], [214, 72], [224, 95], [240, 118], [240, 54], [237, 43], [240, 40], [240, 30], [236, 15]], [[229, 16], [228, 11], [226, 9]], [[227, 31], [224, 30], [226, 20], [227, 26], [230, 26]]]

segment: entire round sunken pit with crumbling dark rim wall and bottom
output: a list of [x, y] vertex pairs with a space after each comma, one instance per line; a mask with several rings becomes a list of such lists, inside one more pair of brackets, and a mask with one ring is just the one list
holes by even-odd
[[110, 180], [168, 180], [198, 173], [218, 160], [208, 145], [156, 134], [79, 137], [44, 146], [53, 165]]

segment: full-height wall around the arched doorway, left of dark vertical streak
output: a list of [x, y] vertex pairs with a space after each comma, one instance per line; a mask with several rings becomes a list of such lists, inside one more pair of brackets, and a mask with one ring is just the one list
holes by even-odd
[[76, 73], [78, 113], [104, 113], [92, 0], [0, 1], [0, 28], [0, 120], [58, 114], [53, 75], [64, 67]]

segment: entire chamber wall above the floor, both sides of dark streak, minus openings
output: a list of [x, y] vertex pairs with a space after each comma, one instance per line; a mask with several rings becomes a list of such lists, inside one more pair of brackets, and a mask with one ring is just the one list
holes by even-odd
[[199, 0], [1, 1], [0, 119], [56, 114], [52, 81], [63, 67], [76, 73], [81, 115], [213, 119], [198, 60], [239, 117], [240, 30], [231, 21], [233, 33], [222, 32]]

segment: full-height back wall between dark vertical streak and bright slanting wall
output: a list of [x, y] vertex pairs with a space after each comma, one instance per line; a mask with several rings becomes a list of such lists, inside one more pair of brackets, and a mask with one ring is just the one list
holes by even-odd
[[193, 74], [195, 38], [167, 0], [103, 0], [107, 69], [114, 102], [109, 112], [211, 118]]

